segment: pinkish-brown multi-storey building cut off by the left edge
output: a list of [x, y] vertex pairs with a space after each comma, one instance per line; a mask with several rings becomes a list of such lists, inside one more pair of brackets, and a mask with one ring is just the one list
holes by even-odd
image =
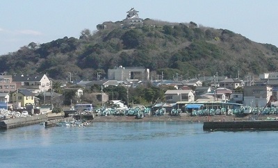
[[0, 92], [14, 92], [17, 84], [13, 82], [11, 75], [0, 75]]

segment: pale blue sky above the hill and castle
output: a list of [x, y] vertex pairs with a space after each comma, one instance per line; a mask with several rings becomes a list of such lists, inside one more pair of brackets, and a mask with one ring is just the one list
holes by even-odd
[[223, 28], [278, 47], [277, 0], [8, 0], [0, 5], [0, 56], [31, 42], [79, 38], [85, 28], [125, 19], [131, 8], [142, 19]]

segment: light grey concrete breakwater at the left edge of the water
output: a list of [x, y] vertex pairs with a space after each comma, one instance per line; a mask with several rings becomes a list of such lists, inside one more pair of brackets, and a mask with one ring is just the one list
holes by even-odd
[[39, 124], [42, 121], [47, 120], [47, 115], [34, 115], [30, 117], [19, 117], [15, 119], [6, 119], [0, 121], [1, 129], [16, 128], [20, 126], [28, 126], [31, 124]]

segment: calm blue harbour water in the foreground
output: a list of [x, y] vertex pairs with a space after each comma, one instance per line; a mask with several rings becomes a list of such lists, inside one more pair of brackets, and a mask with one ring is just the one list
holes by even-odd
[[278, 167], [277, 131], [205, 132], [182, 121], [0, 131], [1, 167]]

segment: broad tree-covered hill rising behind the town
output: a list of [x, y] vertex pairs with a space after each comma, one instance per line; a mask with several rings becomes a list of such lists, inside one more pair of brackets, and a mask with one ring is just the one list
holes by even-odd
[[[107, 69], [146, 67], [152, 75], [184, 78], [238, 72], [259, 74], [278, 69], [278, 49], [252, 42], [227, 29], [145, 19], [141, 28], [122, 28], [121, 22], [105, 22], [107, 28], [81, 31], [79, 39], [63, 37], [44, 44], [31, 42], [17, 52], [0, 57], [0, 72], [47, 73], [54, 79], [95, 80]], [[189, 75], [189, 76], [188, 76]]]

